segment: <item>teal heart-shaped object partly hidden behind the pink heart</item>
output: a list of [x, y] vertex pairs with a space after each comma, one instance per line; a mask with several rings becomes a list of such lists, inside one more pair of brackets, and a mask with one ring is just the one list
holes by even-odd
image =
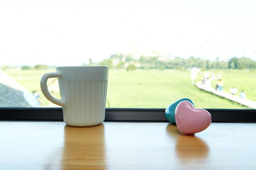
[[176, 101], [173, 104], [170, 104], [166, 110], [165, 110], [165, 117], [169, 120], [169, 122], [171, 122], [172, 124], [175, 124], [175, 110], [177, 105], [181, 102], [181, 101], [189, 101], [190, 103], [193, 104], [193, 106], [195, 106], [195, 104], [193, 103], [193, 101], [191, 101], [191, 99], [188, 98], [183, 98], [183, 99], [179, 99], [179, 101]]

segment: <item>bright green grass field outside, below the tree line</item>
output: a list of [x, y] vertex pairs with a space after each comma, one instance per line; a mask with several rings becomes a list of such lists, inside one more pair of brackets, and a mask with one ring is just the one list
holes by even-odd
[[[29, 91], [38, 90], [42, 106], [49, 104], [40, 90], [40, 78], [44, 73], [55, 70], [17, 71], [8, 69], [5, 72], [12, 76]], [[244, 90], [248, 99], [256, 100], [255, 70], [209, 70], [210, 74], [221, 73], [225, 92], [236, 87], [239, 92]], [[202, 81], [203, 74], [198, 74], [196, 81]], [[215, 80], [212, 81], [214, 87]], [[237, 95], [239, 94], [237, 92]], [[58, 93], [54, 94], [60, 97]], [[188, 97], [196, 108], [246, 108], [213, 94], [196, 88], [186, 70], [109, 70], [108, 103], [111, 108], [166, 108], [180, 98]]]

